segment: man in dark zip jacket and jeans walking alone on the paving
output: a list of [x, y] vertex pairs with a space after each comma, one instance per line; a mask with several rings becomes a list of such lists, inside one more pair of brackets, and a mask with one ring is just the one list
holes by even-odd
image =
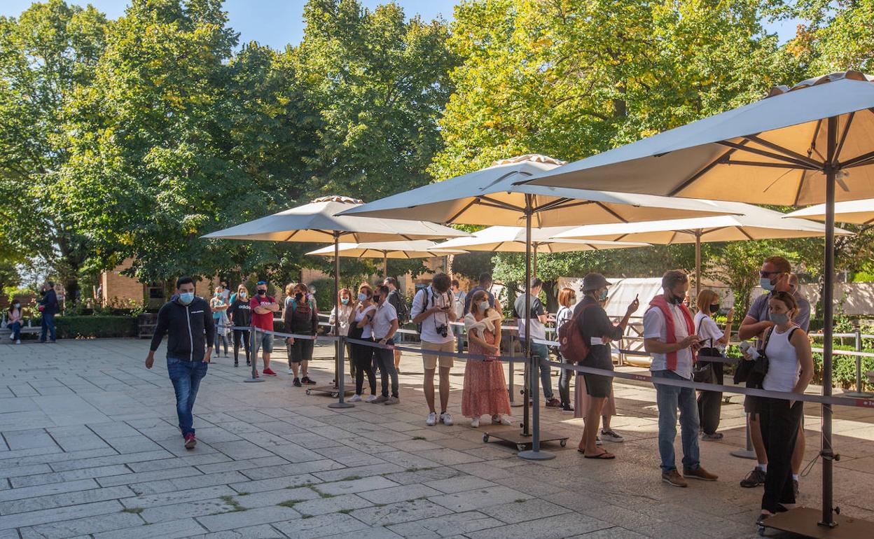
[[194, 295], [191, 277], [180, 277], [176, 281], [176, 292], [158, 311], [146, 369], [151, 369], [155, 363], [155, 350], [161, 345], [163, 335], [169, 334], [167, 373], [176, 391], [176, 412], [185, 449], [193, 449], [198, 443], [194, 438], [194, 399], [198, 396], [200, 381], [206, 376], [216, 328], [209, 303]]

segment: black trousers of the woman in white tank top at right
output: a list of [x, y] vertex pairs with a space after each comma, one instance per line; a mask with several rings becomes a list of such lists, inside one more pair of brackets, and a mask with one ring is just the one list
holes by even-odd
[[804, 403], [796, 401], [790, 408], [782, 398], [756, 397], [759, 425], [767, 453], [765, 494], [762, 508], [776, 513], [780, 504], [794, 503], [792, 487], [792, 453], [804, 415]]

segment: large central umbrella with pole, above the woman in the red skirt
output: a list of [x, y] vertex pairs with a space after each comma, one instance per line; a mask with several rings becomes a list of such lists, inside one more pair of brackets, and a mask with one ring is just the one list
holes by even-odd
[[[564, 190], [543, 186], [515, 185], [520, 180], [545, 173], [564, 164], [545, 155], [521, 155], [496, 161], [485, 169], [430, 183], [392, 197], [358, 206], [343, 215], [420, 218], [435, 223], [468, 225], [524, 225], [525, 281], [531, 281], [532, 227], [628, 223], [656, 218], [689, 218], [721, 215], [718, 204], [709, 201], [629, 195], [602, 190]], [[527, 285], [526, 285], [527, 286]], [[530, 294], [525, 294], [525, 321], [531, 316]], [[525, 324], [525, 356], [531, 356], [531, 324]], [[533, 362], [533, 358], [531, 358]], [[533, 370], [530, 368], [531, 372]], [[529, 377], [531, 380], [533, 376]], [[537, 390], [536, 384], [529, 384]], [[527, 391], [527, 390], [526, 390]], [[535, 393], [536, 396], [536, 393]], [[529, 435], [528, 397], [524, 397], [523, 436]], [[551, 459], [539, 451], [539, 417], [533, 417], [533, 447], [521, 452], [526, 459]]]

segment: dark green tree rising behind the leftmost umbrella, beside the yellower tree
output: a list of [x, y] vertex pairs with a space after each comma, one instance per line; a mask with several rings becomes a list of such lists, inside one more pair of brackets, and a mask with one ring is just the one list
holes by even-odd
[[309, 0], [304, 22], [298, 70], [320, 116], [309, 193], [373, 200], [427, 183], [452, 91], [447, 24], [357, 0]]

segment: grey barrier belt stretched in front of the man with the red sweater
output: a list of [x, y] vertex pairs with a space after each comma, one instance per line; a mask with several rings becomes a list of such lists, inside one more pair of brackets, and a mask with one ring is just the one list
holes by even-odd
[[541, 364], [560, 367], [562, 369], [576, 370], [583, 374], [596, 374], [602, 377], [625, 378], [627, 380], [638, 380], [642, 382], [650, 382], [652, 384], [673, 385], [675, 387], [687, 387], [695, 390], [718, 391], [722, 393], [739, 393], [741, 395], [752, 395], [753, 397], [770, 397], [781, 398], [783, 400], [800, 400], [808, 403], [818, 404], [838, 404], [841, 406], [857, 406], [860, 408], [874, 408], [874, 399], [871, 398], [851, 398], [851, 397], [824, 397], [822, 395], [801, 395], [791, 391], [770, 391], [757, 390], [747, 387], [738, 387], [736, 385], [720, 385], [720, 384], [701, 384], [692, 382], [691, 380], [674, 380], [672, 378], [652, 377], [642, 374], [632, 374], [628, 372], [616, 372], [615, 370], [595, 369], [594, 367], [583, 367], [572, 363], [558, 363], [554, 361], [540, 360]]

